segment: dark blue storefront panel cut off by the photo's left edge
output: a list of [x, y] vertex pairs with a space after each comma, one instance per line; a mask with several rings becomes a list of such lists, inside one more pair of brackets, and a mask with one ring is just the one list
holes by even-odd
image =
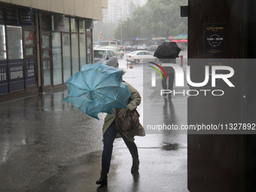
[[0, 94], [8, 93], [7, 60], [0, 60]]

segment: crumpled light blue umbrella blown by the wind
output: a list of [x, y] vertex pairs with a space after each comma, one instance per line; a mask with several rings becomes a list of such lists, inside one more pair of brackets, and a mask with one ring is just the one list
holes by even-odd
[[111, 108], [127, 108], [131, 93], [122, 75], [122, 70], [103, 63], [84, 65], [66, 81], [69, 93], [62, 102], [71, 102], [96, 119], [100, 112], [111, 113]]

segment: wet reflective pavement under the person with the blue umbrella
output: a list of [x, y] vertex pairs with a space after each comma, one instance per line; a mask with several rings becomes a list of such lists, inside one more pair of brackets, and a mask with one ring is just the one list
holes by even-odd
[[[143, 96], [142, 81], [138, 81], [142, 66], [128, 69], [125, 80]], [[60, 89], [0, 103], [0, 191], [188, 191], [187, 136], [170, 132], [136, 137], [140, 159], [136, 175], [130, 173], [132, 157], [126, 145], [115, 139], [108, 186], [95, 184], [101, 170], [105, 114], [99, 114], [100, 120], [88, 117], [60, 102], [66, 95], [67, 90]], [[144, 98], [138, 108], [142, 119], [143, 108], [152, 99]], [[184, 123], [186, 99], [173, 98], [167, 108], [170, 116], [160, 114], [162, 119], [156, 119], [172, 119], [175, 109], [175, 123]], [[153, 102], [159, 108], [152, 115], [163, 114], [166, 99]]]

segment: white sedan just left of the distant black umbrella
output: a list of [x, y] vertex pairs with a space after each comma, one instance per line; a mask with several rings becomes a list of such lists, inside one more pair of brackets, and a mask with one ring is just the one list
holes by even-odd
[[157, 57], [147, 50], [136, 50], [126, 54], [126, 61], [135, 62], [136, 64], [139, 62], [154, 62], [157, 61]]

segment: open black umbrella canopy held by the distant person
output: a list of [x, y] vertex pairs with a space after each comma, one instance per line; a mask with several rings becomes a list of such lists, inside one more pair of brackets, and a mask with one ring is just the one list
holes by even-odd
[[164, 42], [157, 47], [154, 56], [158, 59], [175, 59], [180, 51], [181, 49], [175, 42]]

